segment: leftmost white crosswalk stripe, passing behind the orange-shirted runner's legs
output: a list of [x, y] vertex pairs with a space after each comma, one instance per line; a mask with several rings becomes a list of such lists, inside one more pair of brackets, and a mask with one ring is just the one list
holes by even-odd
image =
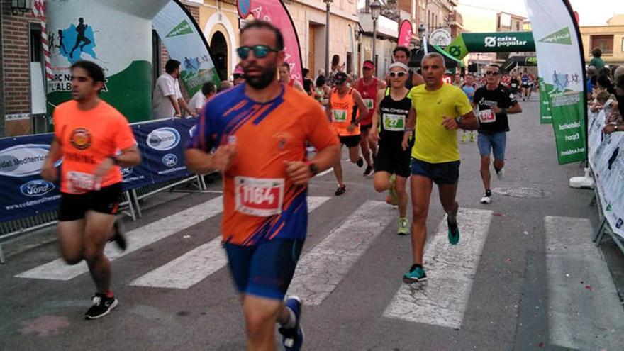
[[[116, 260], [119, 257], [129, 255], [143, 247], [167, 238], [169, 235], [179, 233], [179, 231], [189, 228], [197, 223], [206, 221], [223, 211], [223, 198], [219, 196], [203, 204], [187, 208], [171, 216], [167, 216], [158, 221], [152, 222], [143, 227], [130, 230], [127, 233], [128, 249], [120, 252], [114, 245], [107, 245], [104, 251], [108, 260]], [[62, 258], [42, 264], [26, 272], [16, 275], [19, 278], [69, 280], [78, 277], [80, 274], [89, 272], [87, 263], [80, 262], [69, 266]]]

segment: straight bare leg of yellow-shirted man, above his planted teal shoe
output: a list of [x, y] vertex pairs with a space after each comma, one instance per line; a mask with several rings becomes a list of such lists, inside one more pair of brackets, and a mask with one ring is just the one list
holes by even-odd
[[410, 180], [412, 199], [412, 263], [423, 264], [427, 240], [427, 216], [433, 182], [428, 177], [413, 174]]

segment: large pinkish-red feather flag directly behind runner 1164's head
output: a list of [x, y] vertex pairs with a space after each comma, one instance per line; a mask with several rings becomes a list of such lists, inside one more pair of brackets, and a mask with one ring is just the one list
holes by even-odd
[[275, 0], [252, 0], [251, 14], [255, 19], [271, 22], [273, 26], [282, 30], [282, 35], [284, 35], [284, 52], [286, 52], [284, 62], [290, 65], [291, 77], [303, 86], [303, 77], [301, 76], [303, 63], [301, 61], [299, 37], [297, 36], [297, 30], [295, 29], [295, 25], [284, 2]]

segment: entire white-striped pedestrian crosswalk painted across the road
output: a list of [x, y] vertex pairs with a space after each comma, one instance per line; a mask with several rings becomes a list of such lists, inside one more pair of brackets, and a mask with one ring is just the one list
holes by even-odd
[[[133, 255], [133, 253], [168, 238], [186, 228], [208, 221], [223, 211], [222, 197], [218, 196], [203, 204], [192, 206], [166, 218], [136, 228], [127, 233], [128, 250], [119, 252], [113, 245], [106, 247], [106, 255], [111, 261]], [[314, 211], [323, 206], [335, 206], [330, 197], [309, 196], [308, 213], [311, 221], [323, 221]], [[340, 213], [344, 213], [341, 211]], [[446, 218], [442, 218], [437, 231], [428, 235], [425, 247], [425, 267], [428, 281], [422, 284], [406, 285], [397, 278], [397, 290], [391, 299], [384, 301], [384, 312], [380, 317], [399, 319], [411, 323], [438, 325], [446, 328], [462, 328], [469, 303], [474, 277], [479, 269], [483, 248], [489, 234], [493, 212], [484, 209], [462, 208], [458, 214], [462, 239], [458, 245], [447, 241]], [[318, 218], [318, 219], [317, 219]], [[313, 247], [306, 247], [289, 294], [298, 295], [308, 306], [320, 306], [335, 293], [359, 260], [367, 254], [379, 235], [396, 230], [397, 213], [384, 201], [364, 201], [352, 213]], [[591, 225], [584, 218], [550, 217], [544, 218], [547, 250], [549, 318], [552, 345], [579, 347], [579, 334], [608, 333], [611, 325], [624, 325], [622, 308], [615, 296], [615, 287], [608, 268], [596, 247], [588, 240]], [[561, 228], [567, 235], [560, 235]], [[432, 235], [433, 234], [433, 235]], [[572, 240], [571, 238], [574, 238]], [[562, 258], [563, 257], [563, 258]], [[174, 257], [169, 262], [153, 267], [140, 277], [128, 279], [129, 286], [162, 289], [193, 289], [199, 282], [211, 279], [213, 274], [225, 269], [227, 258], [218, 236], [207, 243]], [[566, 279], [571, 267], [586, 269], [592, 277], [594, 291], [601, 294], [584, 296], [576, 286]], [[580, 268], [582, 267], [582, 268]], [[16, 275], [22, 279], [47, 279], [68, 281], [88, 272], [87, 265], [69, 266], [61, 259], [52, 260], [38, 267]], [[569, 292], [572, 291], [572, 292]], [[580, 304], [576, 301], [584, 301]], [[605, 304], [605, 301], [608, 303]], [[576, 304], [575, 304], [576, 302]], [[571, 307], [572, 306], [572, 307]], [[606, 306], [606, 307], [605, 307]], [[597, 311], [587, 313], [587, 311]], [[596, 315], [598, 313], [601, 318]], [[585, 316], [579, 318], [578, 316]], [[596, 323], [596, 320], [601, 323]], [[575, 321], [571, 323], [570, 321]], [[575, 337], [576, 335], [576, 337]], [[613, 335], [614, 345], [624, 345], [624, 337]], [[586, 338], [587, 340], [591, 339]], [[614, 340], [615, 340], [614, 339]], [[620, 340], [621, 339], [621, 340]]]

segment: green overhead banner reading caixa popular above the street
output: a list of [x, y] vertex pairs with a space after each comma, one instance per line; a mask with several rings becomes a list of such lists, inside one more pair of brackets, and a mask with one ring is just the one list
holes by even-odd
[[469, 52], [535, 51], [535, 41], [531, 32], [462, 33], [445, 51], [462, 60]]

